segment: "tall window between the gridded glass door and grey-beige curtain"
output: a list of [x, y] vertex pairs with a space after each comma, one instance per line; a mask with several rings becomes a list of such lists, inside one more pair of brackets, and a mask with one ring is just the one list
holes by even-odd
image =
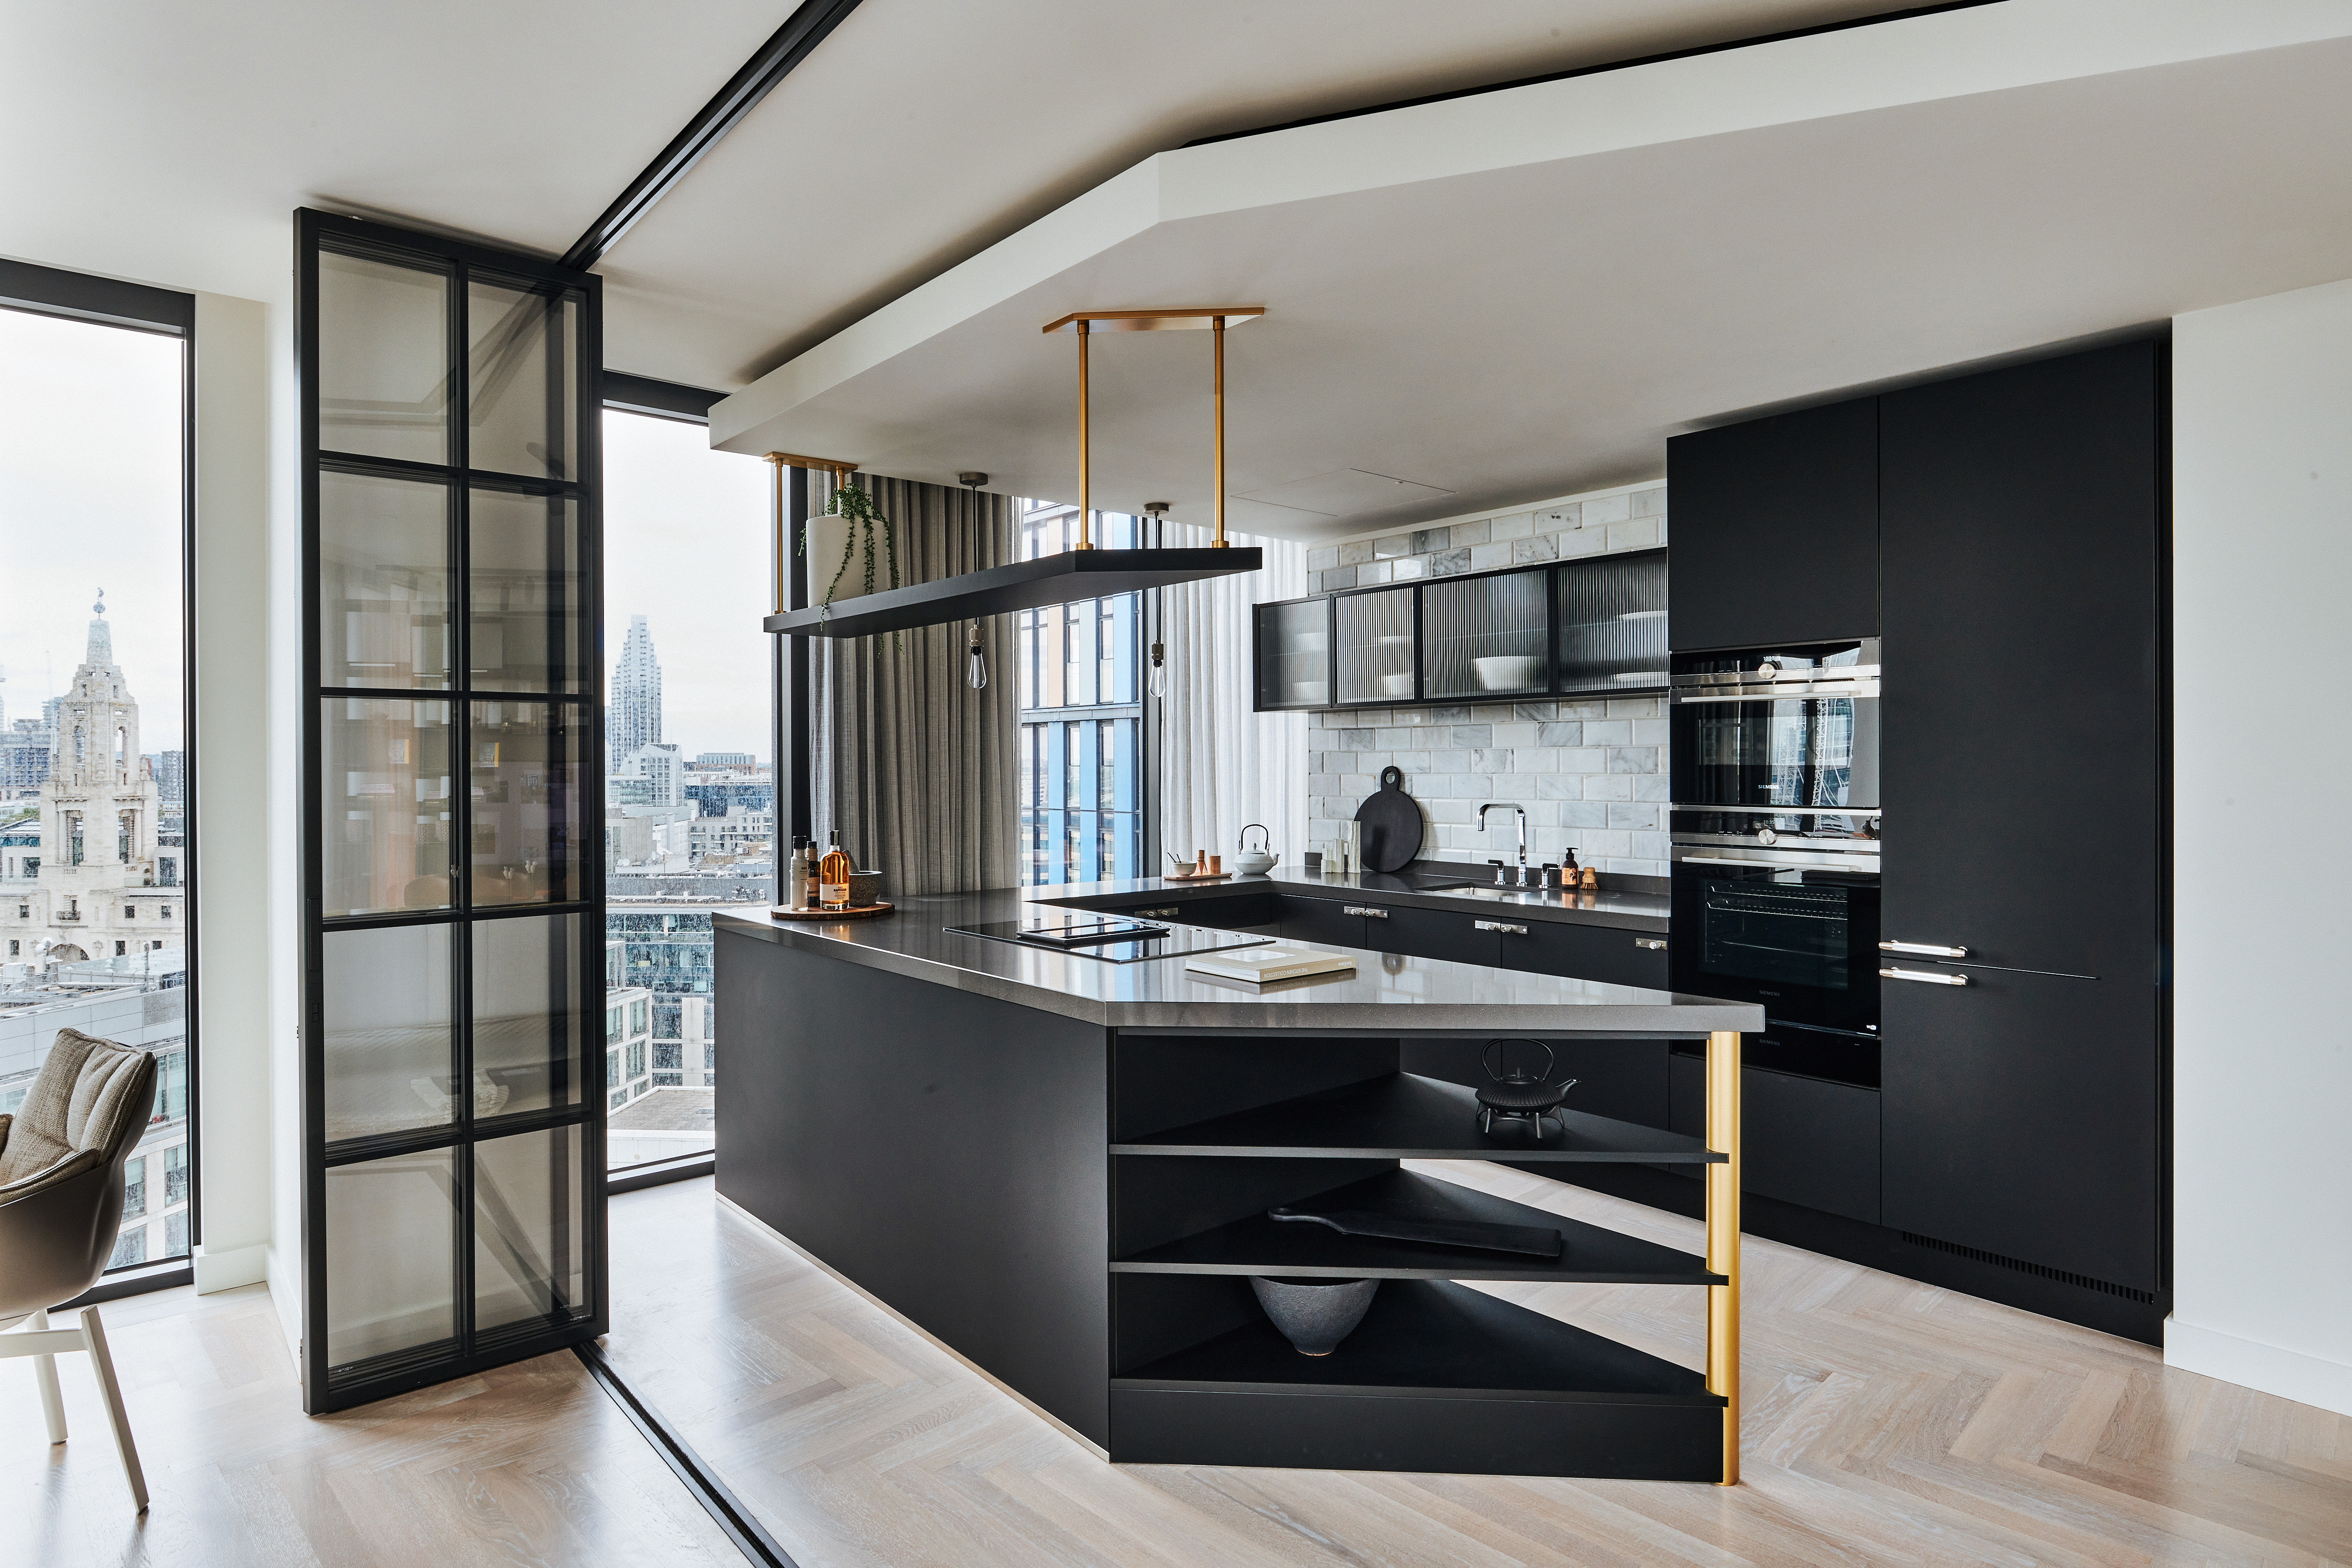
[[699, 421], [604, 409], [612, 1171], [710, 1152], [710, 917], [774, 889], [767, 487]]

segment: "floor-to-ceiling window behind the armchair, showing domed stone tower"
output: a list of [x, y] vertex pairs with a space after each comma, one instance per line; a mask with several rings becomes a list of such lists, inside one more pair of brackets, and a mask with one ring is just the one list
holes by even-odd
[[59, 1030], [158, 1056], [111, 1269], [195, 1232], [193, 299], [0, 263], [0, 1114]]

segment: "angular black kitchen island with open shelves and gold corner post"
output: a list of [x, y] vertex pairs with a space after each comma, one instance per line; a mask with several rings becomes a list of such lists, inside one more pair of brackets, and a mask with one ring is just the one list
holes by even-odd
[[[1181, 957], [1105, 964], [948, 931], [1155, 891], [720, 914], [720, 1194], [1115, 1462], [1733, 1481], [1738, 1037], [1762, 1013], [1369, 950], [1352, 976], [1225, 985]], [[1708, 1135], [1573, 1110], [1543, 1140], [1484, 1135], [1449, 1079], [1494, 1037], [1708, 1041]], [[1406, 1159], [1703, 1166], [1708, 1255]], [[1308, 1199], [1543, 1225], [1566, 1246], [1505, 1258], [1265, 1218]], [[1251, 1274], [1383, 1286], [1355, 1335], [1310, 1359]], [[1465, 1279], [1705, 1286], [1708, 1373]]]

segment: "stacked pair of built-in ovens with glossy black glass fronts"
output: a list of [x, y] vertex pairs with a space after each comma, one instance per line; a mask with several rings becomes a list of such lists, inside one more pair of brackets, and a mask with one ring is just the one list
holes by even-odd
[[1679, 992], [1778, 1025], [1879, 1027], [1879, 644], [1672, 658]]

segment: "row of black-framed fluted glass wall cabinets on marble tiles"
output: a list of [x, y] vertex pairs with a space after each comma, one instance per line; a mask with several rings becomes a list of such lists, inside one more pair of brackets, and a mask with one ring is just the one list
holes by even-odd
[[1665, 550], [1258, 604], [1258, 710], [1665, 691]]

